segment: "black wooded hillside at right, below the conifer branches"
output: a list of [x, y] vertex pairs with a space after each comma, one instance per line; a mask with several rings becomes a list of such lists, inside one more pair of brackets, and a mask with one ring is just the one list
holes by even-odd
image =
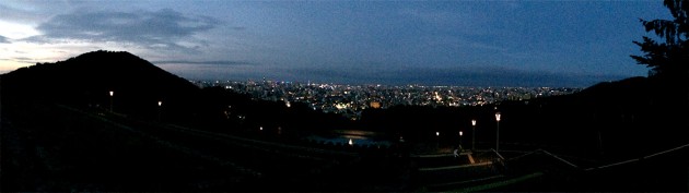
[[573, 95], [506, 101], [499, 107], [501, 128], [506, 141], [569, 144], [591, 156], [655, 153], [689, 143], [689, 105], [681, 85], [631, 77]]

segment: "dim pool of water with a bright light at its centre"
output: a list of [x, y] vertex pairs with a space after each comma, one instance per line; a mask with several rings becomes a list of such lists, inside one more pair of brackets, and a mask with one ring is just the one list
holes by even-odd
[[392, 145], [390, 141], [382, 137], [384, 134], [370, 132], [370, 131], [359, 131], [359, 130], [336, 130], [331, 133], [331, 136], [322, 136], [312, 134], [306, 136], [307, 140], [316, 141], [318, 143], [329, 144], [348, 144], [349, 140], [352, 140], [353, 145], [358, 146], [371, 146], [371, 147], [389, 147]]

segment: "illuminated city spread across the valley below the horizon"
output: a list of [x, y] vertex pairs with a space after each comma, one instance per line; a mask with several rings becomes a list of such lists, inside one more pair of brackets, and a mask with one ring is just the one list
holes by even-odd
[[482, 106], [501, 100], [527, 100], [568, 95], [582, 88], [570, 87], [469, 87], [425, 85], [347, 85], [282, 81], [192, 81], [199, 87], [219, 86], [255, 99], [307, 104], [314, 110], [359, 119], [366, 108], [393, 106], [460, 107]]

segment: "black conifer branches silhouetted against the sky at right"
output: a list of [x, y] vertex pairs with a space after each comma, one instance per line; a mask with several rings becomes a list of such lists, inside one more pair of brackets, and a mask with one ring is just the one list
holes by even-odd
[[[652, 68], [650, 76], [687, 77], [689, 73], [689, 1], [665, 0], [674, 20], [640, 19], [646, 32], [655, 33], [665, 43], [658, 43], [643, 36], [643, 43], [633, 41], [641, 47], [644, 56], [631, 56], [639, 64]], [[682, 79], [684, 80], [684, 79]]]

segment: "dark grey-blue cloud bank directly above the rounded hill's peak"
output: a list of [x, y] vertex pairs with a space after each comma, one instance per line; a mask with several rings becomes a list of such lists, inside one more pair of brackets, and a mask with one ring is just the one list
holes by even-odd
[[59, 14], [36, 28], [34, 41], [92, 41], [135, 44], [153, 49], [197, 49], [206, 45], [194, 35], [207, 32], [221, 22], [209, 16], [184, 15], [174, 10], [155, 12], [75, 11]]

